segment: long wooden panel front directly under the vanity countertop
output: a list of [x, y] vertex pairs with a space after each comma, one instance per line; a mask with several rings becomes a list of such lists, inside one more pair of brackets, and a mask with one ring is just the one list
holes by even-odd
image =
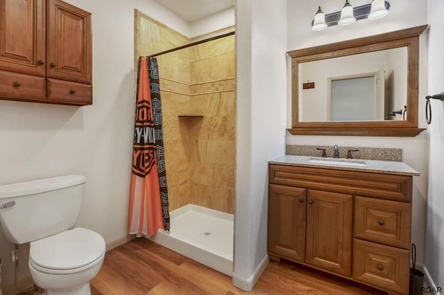
[[334, 193], [411, 202], [412, 177], [270, 164], [269, 182]]

